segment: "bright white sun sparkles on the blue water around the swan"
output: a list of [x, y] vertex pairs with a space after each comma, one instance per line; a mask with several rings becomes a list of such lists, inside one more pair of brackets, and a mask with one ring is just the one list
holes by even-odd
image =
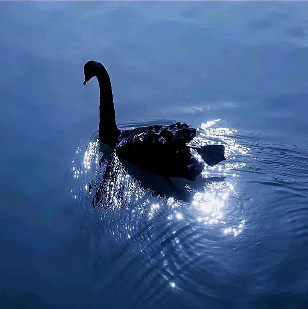
[[[214, 167], [206, 165], [202, 171], [202, 176], [208, 178], [217, 176], [218, 174], [218, 176], [229, 176], [229, 179], [230, 177], [234, 179], [239, 177], [239, 174], [237, 174], [235, 170], [245, 167], [246, 163], [243, 162], [243, 156], [249, 155], [250, 149], [240, 145], [232, 136], [237, 132], [236, 129], [212, 127], [213, 125], [218, 125], [219, 122], [220, 119], [215, 119], [202, 123], [201, 128], [197, 128], [197, 136], [191, 144], [194, 146], [223, 144], [225, 146], [227, 161], [217, 164]], [[76, 181], [80, 181], [80, 178], [82, 181], [85, 179], [84, 177], [86, 174], [84, 173], [90, 170], [93, 163], [97, 167], [99, 161], [99, 146], [100, 142], [98, 139], [94, 142], [89, 142], [83, 155], [83, 164], [81, 167], [78, 167], [78, 164], [75, 163], [76, 160], [72, 161], [72, 163], [74, 163], [74, 166], [72, 166], [72, 173]], [[76, 153], [82, 153], [81, 147], [78, 147]], [[198, 160], [201, 160], [201, 157], [197, 153], [193, 153], [193, 155]], [[117, 211], [123, 207], [128, 210], [131, 205], [137, 205], [131, 210], [132, 214], [134, 214], [135, 211], [141, 216], [147, 213], [148, 219], [152, 219], [164, 205], [165, 207], [171, 206], [173, 209], [181, 205], [180, 201], [176, 201], [173, 197], [169, 197], [167, 201], [160, 198], [161, 202], [156, 200], [156, 202], [148, 207], [150, 204], [150, 197], [145, 197], [146, 189], [141, 187], [138, 181], [127, 174], [126, 167], [122, 165], [115, 152], [111, 155], [111, 160], [106, 164], [107, 165], [104, 166], [106, 171], [102, 173], [102, 175], [100, 175], [100, 168], [97, 168], [94, 170], [95, 178], [83, 185], [87, 194], [91, 194], [93, 191], [95, 195], [93, 203], [95, 203], [96, 207]], [[238, 226], [228, 226], [229, 224], [223, 219], [230, 195], [236, 196], [237, 193], [233, 185], [228, 182], [228, 178], [226, 181], [210, 183], [207, 185], [204, 192], [196, 192], [191, 205], [200, 212], [196, 218], [197, 222], [204, 225], [224, 224], [227, 225], [223, 230], [225, 235], [239, 235], [244, 227], [245, 220], [241, 220]], [[77, 195], [73, 196], [77, 199]], [[169, 221], [174, 219], [181, 220], [184, 218], [184, 215], [178, 211], [174, 211], [173, 215], [169, 214], [166, 218]], [[175, 231], [173, 233], [175, 233]], [[127, 235], [127, 237], [130, 238], [131, 236]]]

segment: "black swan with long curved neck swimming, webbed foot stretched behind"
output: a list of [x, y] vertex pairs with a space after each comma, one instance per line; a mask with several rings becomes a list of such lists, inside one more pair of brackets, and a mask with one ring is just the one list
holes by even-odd
[[192, 154], [195, 150], [206, 164], [213, 166], [223, 160], [223, 145], [189, 146], [196, 129], [177, 122], [172, 125], [150, 125], [131, 130], [120, 130], [115, 122], [111, 82], [105, 67], [97, 61], [88, 61], [84, 67], [85, 85], [92, 77], [99, 83], [98, 138], [116, 150], [119, 157], [144, 171], [169, 180], [180, 177], [194, 181], [204, 168]]

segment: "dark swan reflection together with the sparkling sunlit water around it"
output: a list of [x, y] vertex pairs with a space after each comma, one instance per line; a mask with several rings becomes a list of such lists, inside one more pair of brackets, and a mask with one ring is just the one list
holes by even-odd
[[[167, 220], [181, 220], [183, 214], [179, 209], [189, 207], [199, 224], [221, 224], [224, 234], [239, 235], [245, 225], [244, 218], [233, 218], [229, 220], [231, 222], [224, 218], [227, 201], [231, 196], [237, 196], [228, 178], [233, 180], [238, 177], [235, 170], [245, 167], [244, 159], [251, 155], [249, 148], [240, 145], [233, 137], [234, 132], [237, 132], [235, 129], [212, 128], [219, 122], [220, 119], [216, 119], [197, 128], [193, 144], [223, 144], [227, 161], [213, 167], [206, 166], [202, 176], [194, 182], [177, 178], [168, 182], [161, 176], [141, 171], [120, 159], [114, 150], [98, 138], [85, 146], [84, 153], [83, 147], [78, 147], [76, 153], [83, 153], [83, 160], [82, 164], [78, 163], [81, 159], [78, 156], [73, 160], [72, 171], [77, 181], [76, 188], [72, 190], [73, 197], [79, 199], [86, 193], [93, 207], [102, 212], [130, 210], [134, 216], [147, 216], [149, 220], [162, 207], [170, 208]], [[195, 153], [194, 156], [198, 159], [199, 155]], [[156, 198], [155, 202], [153, 198]]]

